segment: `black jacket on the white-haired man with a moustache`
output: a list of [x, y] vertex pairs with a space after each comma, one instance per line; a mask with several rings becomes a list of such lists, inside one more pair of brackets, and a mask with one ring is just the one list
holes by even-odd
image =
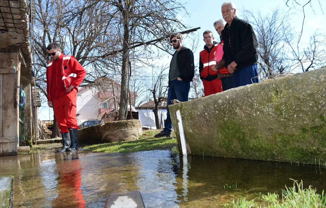
[[254, 30], [248, 22], [240, 20], [236, 16], [230, 27], [229, 23], [226, 23], [224, 26], [222, 38], [224, 40], [225, 67], [228, 67], [232, 61], [237, 64], [237, 70], [257, 64], [258, 41]]

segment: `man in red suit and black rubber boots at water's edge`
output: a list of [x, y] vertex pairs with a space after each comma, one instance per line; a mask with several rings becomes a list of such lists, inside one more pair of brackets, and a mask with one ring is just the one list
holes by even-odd
[[61, 53], [57, 43], [50, 43], [47, 50], [52, 59], [46, 70], [48, 106], [53, 108], [62, 136], [62, 148], [57, 152], [77, 150], [77, 91], [86, 71], [73, 56]]

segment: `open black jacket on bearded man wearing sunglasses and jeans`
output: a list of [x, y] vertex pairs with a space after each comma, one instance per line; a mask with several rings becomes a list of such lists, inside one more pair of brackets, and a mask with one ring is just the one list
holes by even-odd
[[[195, 64], [194, 64], [194, 54], [190, 49], [186, 48], [185, 46], [181, 46], [181, 49], [177, 55], [177, 65], [180, 71], [179, 77], [185, 82], [192, 82], [192, 79], [194, 78], [195, 75]], [[170, 83], [170, 70], [171, 70], [171, 63], [169, 69], [169, 83]]]

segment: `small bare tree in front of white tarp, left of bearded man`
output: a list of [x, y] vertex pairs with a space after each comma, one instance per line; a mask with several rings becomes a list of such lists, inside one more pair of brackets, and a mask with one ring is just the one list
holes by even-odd
[[154, 99], [154, 103], [155, 103], [153, 112], [155, 115], [156, 129], [161, 128], [159, 115], [158, 115], [158, 106], [162, 101], [164, 101], [164, 99], [167, 96], [167, 91], [168, 91], [168, 86], [167, 86], [168, 83], [166, 82], [167, 81], [166, 78], [168, 77], [168, 74], [163, 74], [163, 72], [164, 72], [164, 69], [161, 68], [161, 71], [158, 74], [158, 76], [155, 76], [156, 73], [153, 70], [152, 87], [150, 89], [148, 89], [153, 94], [153, 99]]

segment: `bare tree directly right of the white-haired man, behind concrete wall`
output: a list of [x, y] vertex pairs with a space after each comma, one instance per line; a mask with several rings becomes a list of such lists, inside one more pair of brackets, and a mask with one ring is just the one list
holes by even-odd
[[282, 74], [289, 69], [288, 44], [289, 34], [293, 28], [284, 24], [290, 10], [275, 8], [270, 13], [262, 14], [260, 10], [253, 12], [244, 9], [244, 17], [255, 30], [258, 40], [258, 54], [262, 61], [259, 67], [267, 78]]

